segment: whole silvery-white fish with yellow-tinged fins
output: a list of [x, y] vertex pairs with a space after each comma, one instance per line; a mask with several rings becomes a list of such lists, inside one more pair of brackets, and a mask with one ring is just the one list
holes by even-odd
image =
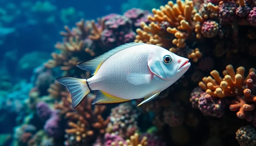
[[[94, 105], [155, 99], [176, 82], [190, 67], [187, 58], [144, 43], [128, 43], [77, 65], [93, 75], [89, 79], [60, 77], [76, 108], [92, 90], [99, 90]], [[138, 105], [138, 106], [139, 106]]]

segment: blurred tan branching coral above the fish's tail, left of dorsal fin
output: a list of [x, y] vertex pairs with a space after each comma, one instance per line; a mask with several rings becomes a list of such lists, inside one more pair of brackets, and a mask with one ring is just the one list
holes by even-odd
[[85, 22], [82, 19], [76, 23], [76, 26], [71, 30], [67, 26], [64, 27], [67, 32], [60, 33], [64, 37], [63, 43], [57, 42], [55, 45], [60, 53], [53, 52], [52, 59], [45, 63], [45, 67], [60, 67], [64, 75], [70, 75], [71, 70], [72, 74], [80, 75], [81, 70], [76, 67], [78, 63], [92, 58], [96, 55], [95, 52], [107, 51], [95, 50], [95, 48], [105, 48], [100, 39], [105, 28], [104, 20], [99, 19], [96, 24], [94, 20]]

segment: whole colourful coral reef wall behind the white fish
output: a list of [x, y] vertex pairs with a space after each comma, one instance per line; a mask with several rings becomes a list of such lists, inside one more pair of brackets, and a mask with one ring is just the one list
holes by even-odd
[[[133, 8], [97, 21], [81, 19], [74, 28], [64, 26], [63, 42], [55, 45], [59, 51], [36, 71], [24, 102], [32, 115], [25, 114], [15, 128], [14, 143], [256, 146], [255, 27], [255, 0], [169, 1], [152, 13]], [[89, 78], [78, 63], [129, 42], [162, 46], [192, 65], [156, 100], [138, 108], [134, 102], [141, 99], [94, 106], [92, 92], [72, 110], [68, 91], [53, 81], [54, 69]]]

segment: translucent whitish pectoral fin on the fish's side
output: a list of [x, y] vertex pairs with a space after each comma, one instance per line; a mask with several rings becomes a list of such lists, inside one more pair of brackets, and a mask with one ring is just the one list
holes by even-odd
[[126, 80], [134, 85], [148, 84], [153, 77], [153, 74], [127, 74]]

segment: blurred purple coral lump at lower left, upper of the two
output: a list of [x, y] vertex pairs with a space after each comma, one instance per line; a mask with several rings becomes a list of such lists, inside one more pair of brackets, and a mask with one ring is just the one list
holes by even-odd
[[47, 103], [43, 101], [40, 101], [37, 103], [36, 112], [37, 112], [38, 118], [40, 118], [42, 122], [45, 122], [46, 120], [48, 120], [52, 114], [52, 111], [49, 105], [47, 105]]

